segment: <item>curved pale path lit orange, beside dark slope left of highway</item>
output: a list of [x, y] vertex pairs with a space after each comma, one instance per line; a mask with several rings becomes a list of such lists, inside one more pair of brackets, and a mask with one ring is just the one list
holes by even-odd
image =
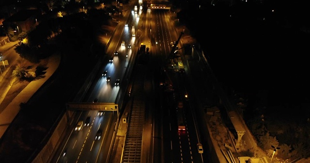
[[[7, 49], [9, 49], [9, 47], [7, 47]], [[0, 113], [0, 137], [2, 137], [11, 122], [14, 120], [15, 116], [18, 114], [20, 109], [19, 104], [22, 102], [26, 103], [32, 95], [53, 75], [60, 64], [60, 60], [61, 56], [59, 54], [53, 54], [50, 56], [46, 66], [46, 73], [44, 74], [45, 77], [37, 78], [36, 80], [31, 81], [27, 87], [11, 101], [5, 110]]]

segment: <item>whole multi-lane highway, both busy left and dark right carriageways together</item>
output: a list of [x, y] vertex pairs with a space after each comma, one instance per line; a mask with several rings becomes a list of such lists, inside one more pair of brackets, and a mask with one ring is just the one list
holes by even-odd
[[[108, 56], [105, 57], [101, 70], [94, 78], [87, 99], [80, 102], [92, 103], [94, 99], [98, 99], [94, 102], [115, 102], [121, 105], [124, 95], [127, 94], [127, 84], [131, 79], [130, 69], [134, 66], [139, 46], [141, 43], [146, 44], [150, 48], [150, 57], [146, 63], [149, 67], [147, 73], [151, 73], [149, 76], [153, 79], [154, 96], [153, 101], [148, 102], [151, 104], [149, 105], [149, 109], [152, 109], [149, 112], [151, 116], [146, 116], [153, 119], [151, 121], [154, 123], [154, 132], [150, 133], [153, 135], [149, 135], [152, 137], [149, 144], [153, 148], [149, 157], [152, 157], [153, 162], [202, 163], [202, 154], [197, 150], [200, 135], [196, 127], [196, 115], [192, 112], [193, 106], [190, 101], [184, 98], [185, 94], [191, 97], [191, 92], [188, 91], [190, 88], [188, 80], [191, 80], [187, 78], [188, 67], [185, 65], [186, 73], [180, 73], [178, 66], [173, 65], [168, 59], [171, 56], [171, 42], [176, 41], [180, 34], [175, 32], [170, 11], [149, 10], [146, 7], [140, 10], [142, 4], [138, 1], [131, 2], [128, 6], [130, 5], [132, 7], [116, 27], [107, 50]], [[129, 45], [131, 48], [128, 48]], [[182, 45], [178, 46], [181, 48]], [[184, 60], [182, 51], [179, 50], [178, 53]], [[113, 58], [112, 62], [109, 62], [110, 58]], [[107, 76], [102, 76], [104, 71], [107, 71]], [[107, 78], [110, 78], [110, 81], [107, 81]], [[160, 88], [159, 83], [162, 82], [160, 79], [163, 78], [173, 84], [174, 91], [166, 92]], [[115, 85], [118, 79], [120, 85]], [[185, 131], [179, 131], [177, 126], [176, 103], [180, 100], [185, 104]], [[87, 117], [91, 117], [90, 125], [75, 130], [78, 121], [85, 122]], [[97, 115], [97, 111], [77, 112], [54, 162], [108, 163], [117, 118], [114, 112], [104, 112], [102, 116]], [[95, 140], [98, 130], [102, 130], [101, 139]]]

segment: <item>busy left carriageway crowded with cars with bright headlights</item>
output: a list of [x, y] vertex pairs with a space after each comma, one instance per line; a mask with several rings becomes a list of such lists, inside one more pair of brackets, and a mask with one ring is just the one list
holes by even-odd
[[[130, 76], [127, 69], [132, 66], [134, 51], [137, 50], [134, 46], [136, 37], [133, 34], [136, 33], [138, 22], [137, 14], [134, 15], [131, 12], [128, 14], [126, 23], [119, 22], [116, 27], [117, 32], [114, 33], [107, 50], [109, 57], [105, 58], [101, 70], [97, 72], [87, 92], [87, 101], [81, 102], [122, 103], [122, 96]], [[130, 26], [126, 25], [125, 27], [125, 24], [130, 24]], [[123, 41], [124, 45], [122, 45]], [[132, 48], [128, 48], [128, 45], [132, 45]], [[117, 54], [116, 51], [118, 51]], [[112, 62], [109, 61], [110, 58], [113, 58]], [[107, 75], [103, 76], [105, 71], [107, 71]], [[119, 80], [120, 85], [116, 84], [117, 80]], [[117, 112], [104, 112], [102, 116], [98, 116], [97, 112], [82, 111], [76, 113], [70, 128], [71, 132], [62, 141], [58, 156], [55, 156], [57, 158], [54, 159], [56, 163], [108, 162], [117, 123]], [[90, 126], [83, 127], [80, 131], [74, 130], [78, 121], [85, 121], [88, 116], [92, 119]], [[99, 129], [103, 131], [101, 139], [95, 140], [95, 135]], [[65, 156], [63, 156], [64, 152], [66, 152]]]

